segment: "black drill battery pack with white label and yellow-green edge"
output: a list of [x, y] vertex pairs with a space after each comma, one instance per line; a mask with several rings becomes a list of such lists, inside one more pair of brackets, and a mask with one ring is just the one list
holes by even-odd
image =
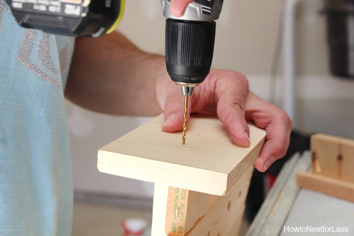
[[112, 32], [123, 16], [125, 0], [6, 0], [23, 27], [75, 37]]

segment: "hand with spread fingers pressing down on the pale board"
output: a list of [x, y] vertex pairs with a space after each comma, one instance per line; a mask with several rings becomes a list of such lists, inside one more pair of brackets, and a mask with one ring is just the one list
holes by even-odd
[[[164, 110], [165, 122], [162, 129], [169, 132], [180, 131], [184, 119], [181, 89], [169, 78], [162, 78], [160, 85], [163, 88], [159, 88], [161, 92], [157, 98]], [[289, 116], [250, 92], [244, 75], [211, 69], [204, 82], [195, 87], [190, 101], [190, 113], [217, 114], [230, 132], [232, 141], [241, 147], [250, 145], [247, 121], [253, 121], [267, 131], [265, 144], [255, 163], [257, 170], [264, 172], [285, 155], [292, 128]]]

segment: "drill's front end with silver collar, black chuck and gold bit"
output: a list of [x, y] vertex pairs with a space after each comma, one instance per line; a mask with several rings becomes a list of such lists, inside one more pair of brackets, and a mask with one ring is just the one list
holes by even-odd
[[183, 141], [186, 141], [188, 96], [209, 74], [214, 52], [214, 20], [219, 18], [224, 0], [194, 0], [182, 17], [170, 12], [170, 0], [161, 0], [166, 19], [165, 57], [171, 79], [185, 96]]

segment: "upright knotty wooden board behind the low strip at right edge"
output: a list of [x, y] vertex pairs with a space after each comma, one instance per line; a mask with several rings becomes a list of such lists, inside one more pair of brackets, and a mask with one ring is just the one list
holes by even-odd
[[354, 183], [354, 140], [323, 133], [311, 136], [312, 171]]

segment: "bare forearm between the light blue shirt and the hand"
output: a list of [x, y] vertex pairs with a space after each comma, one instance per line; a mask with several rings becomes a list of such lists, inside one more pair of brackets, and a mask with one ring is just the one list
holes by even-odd
[[162, 56], [142, 52], [118, 32], [77, 38], [65, 96], [97, 112], [157, 115], [164, 68]]

